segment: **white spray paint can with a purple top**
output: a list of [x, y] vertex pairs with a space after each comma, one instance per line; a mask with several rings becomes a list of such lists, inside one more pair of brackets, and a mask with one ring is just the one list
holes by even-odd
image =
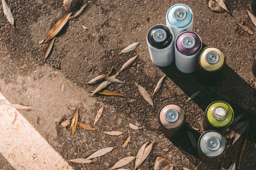
[[175, 64], [181, 72], [196, 71], [202, 46], [202, 40], [195, 32], [185, 31], [178, 35], [175, 41]]

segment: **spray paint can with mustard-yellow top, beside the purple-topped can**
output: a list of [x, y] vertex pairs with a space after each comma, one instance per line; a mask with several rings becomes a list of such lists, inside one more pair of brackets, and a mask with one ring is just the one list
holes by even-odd
[[212, 85], [221, 79], [226, 56], [217, 47], [204, 48], [198, 57], [198, 78], [204, 84]]

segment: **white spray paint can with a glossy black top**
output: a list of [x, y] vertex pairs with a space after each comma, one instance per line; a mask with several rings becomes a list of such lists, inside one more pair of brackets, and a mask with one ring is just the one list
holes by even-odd
[[148, 51], [154, 64], [165, 67], [174, 58], [174, 37], [172, 30], [165, 25], [150, 28], [147, 34]]

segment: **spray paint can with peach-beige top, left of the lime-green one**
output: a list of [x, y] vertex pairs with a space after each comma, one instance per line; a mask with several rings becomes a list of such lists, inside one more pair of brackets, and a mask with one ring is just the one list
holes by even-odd
[[186, 113], [180, 105], [169, 103], [160, 108], [158, 122], [165, 136], [175, 137], [186, 127]]

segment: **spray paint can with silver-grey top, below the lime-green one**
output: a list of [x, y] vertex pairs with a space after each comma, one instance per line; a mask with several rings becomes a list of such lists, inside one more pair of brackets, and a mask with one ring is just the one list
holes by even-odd
[[197, 147], [198, 158], [204, 162], [215, 162], [224, 155], [227, 149], [225, 137], [216, 130], [204, 132]]

